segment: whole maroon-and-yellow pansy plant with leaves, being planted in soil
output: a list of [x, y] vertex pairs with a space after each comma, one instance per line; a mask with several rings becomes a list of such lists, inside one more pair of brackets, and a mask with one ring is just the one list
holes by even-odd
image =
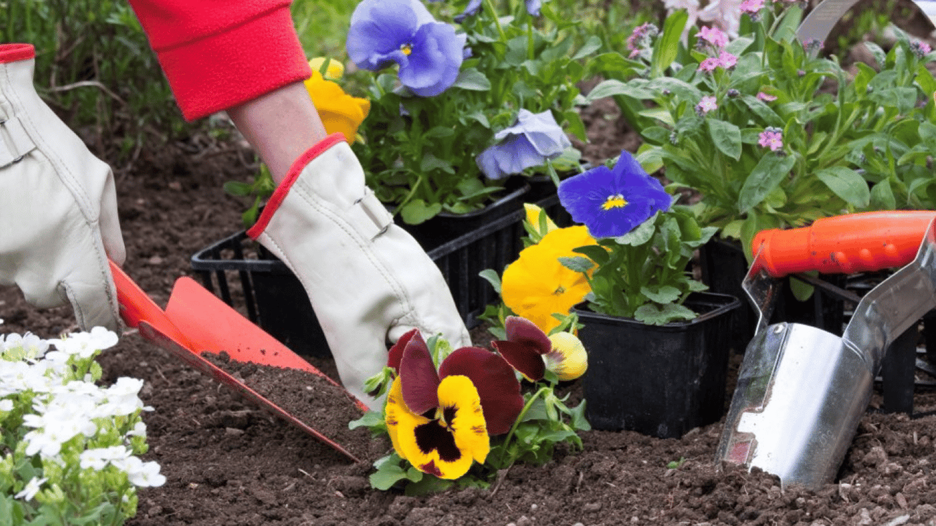
[[585, 404], [570, 407], [556, 392], [587, 369], [578, 338], [509, 316], [505, 338], [491, 345], [452, 349], [412, 329], [390, 348], [387, 367], [367, 384], [387, 395], [383, 410], [351, 423], [393, 445], [374, 462], [374, 488], [487, 488], [515, 462], [545, 463], [559, 444], [581, 449], [578, 431], [591, 429]]

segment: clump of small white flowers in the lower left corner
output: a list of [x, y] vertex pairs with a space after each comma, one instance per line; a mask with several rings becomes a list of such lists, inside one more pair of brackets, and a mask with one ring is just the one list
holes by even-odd
[[[0, 320], [2, 323], [2, 320]], [[41, 340], [0, 335], [0, 518], [4, 524], [123, 524], [137, 488], [162, 486], [147, 450], [141, 380], [95, 384], [104, 328]]]

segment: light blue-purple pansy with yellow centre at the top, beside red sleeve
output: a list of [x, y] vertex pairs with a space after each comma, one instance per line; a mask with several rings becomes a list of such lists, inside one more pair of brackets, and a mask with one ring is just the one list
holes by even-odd
[[400, 82], [419, 96], [446, 91], [459, 76], [466, 36], [436, 22], [419, 0], [364, 0], [355, 7], [347, 52], [362, 69], [400, 65]]

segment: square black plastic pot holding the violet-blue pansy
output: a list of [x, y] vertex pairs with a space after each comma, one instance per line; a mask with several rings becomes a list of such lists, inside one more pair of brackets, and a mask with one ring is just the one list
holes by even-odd
[[585, 413], [596, 430], [679, 438], [724, 415], [733, 296], [695, 293], [687, 322], [652, 326], [576, 307], [589, 354]]

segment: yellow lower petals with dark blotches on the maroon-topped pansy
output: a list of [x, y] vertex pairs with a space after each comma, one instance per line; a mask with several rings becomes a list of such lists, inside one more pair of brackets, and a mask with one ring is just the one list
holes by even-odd
[[438, 395], [436, 419], [416, 415], [402, 401], [398, 377], [388, 395], [387, 429], [397, 453], [419, 471], [455, 479], [468, 473], [475, 460], [483, 462], [488, 457], [490, 437], [481, 398], [471, 380], [446, 376]]

